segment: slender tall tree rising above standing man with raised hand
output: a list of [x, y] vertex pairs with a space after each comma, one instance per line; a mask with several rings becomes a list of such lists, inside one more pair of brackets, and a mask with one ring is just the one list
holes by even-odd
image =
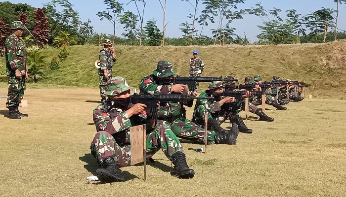
[[[117, 25], [117, 19], [119, 15], [124, 11], [123, 8], [123, 3], [119, 3], [118, 1], [115, 0], [104, 0], [103, 1], [105, 5], [108, 7], [106, 8], [108, 11], [102, 11], [102, 12], [97, 12], [97, 16], [100, 17], [100, 20], [102, 21], [103, 19], [107, 19], [109, 22], [112, 23], [113, 25], [113, 43], [115, 39], [115, 31], [116, 31], [116, 25]], [[110, 10], [112, 13], [110, 13]], [[111, 15], [113, 14], [113, 16]]]

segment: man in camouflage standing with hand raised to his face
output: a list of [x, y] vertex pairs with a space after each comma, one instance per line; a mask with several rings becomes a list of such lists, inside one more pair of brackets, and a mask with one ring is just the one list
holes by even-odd
[[103, 49], [100, 50], [99, 60], [100, 96], [101, 99], [105, 99], [106, 95], [104, 93], [107, 90], [107, 80], [112, 77], [113, 63], [117, 60], [111, 40], [104, 40]]

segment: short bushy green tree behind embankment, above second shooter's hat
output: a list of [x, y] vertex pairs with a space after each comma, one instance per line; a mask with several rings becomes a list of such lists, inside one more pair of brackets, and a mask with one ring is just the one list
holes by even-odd
[[162, 34], [156, 26], [156, 21], [154, 19], [148, 21], [143, 29], [145, 42], [150, 46], [160, 46]]

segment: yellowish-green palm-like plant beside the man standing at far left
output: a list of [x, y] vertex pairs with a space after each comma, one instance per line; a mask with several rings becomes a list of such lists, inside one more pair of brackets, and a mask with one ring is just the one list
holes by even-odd
[[46, 57], [46, 54], [39, 51], [27, 53], [29, 78], [34, 82], [38, 82], [46, 77], [45, 62], [43, 60]]

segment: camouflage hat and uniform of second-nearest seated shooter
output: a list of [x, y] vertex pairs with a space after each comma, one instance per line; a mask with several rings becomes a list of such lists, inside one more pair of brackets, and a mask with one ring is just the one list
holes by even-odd
[[[172, 69], [172, 64], [167, 61], [159, 61], [157, 69], [153, 74], [143, 77], [140, 84], [140, 94], [171, 94], [171, 84], [157, 85], [155, 81], [158, 78], [169, 77], [175, 74]], [[187, 94], [185, 91], [183, 94]], [[159, 119], [165, 120], [171, 124], [171, 129], [177, 137], [192, 140], [197, 143], [204, 142], [204, 129], [189, 120], [182, 114], [184, 113], [183, 105], [191, 107], [193, 100], [189, 102], [161, 102], [160, 109], [158, 110]], [[214, 131], [207, 131], [207, 142], [214, 144]]]

